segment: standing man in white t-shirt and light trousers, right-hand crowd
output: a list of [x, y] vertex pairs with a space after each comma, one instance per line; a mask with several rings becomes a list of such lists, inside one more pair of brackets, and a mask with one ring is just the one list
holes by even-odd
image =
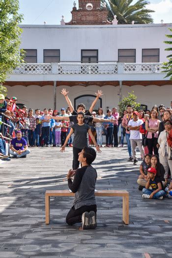
[[133, 153], [134, 165], [137, 165], [138, 159], [136, 154], [136, 146], [139, 147], [142, 159], [144, 159], [144, 149], [142, 146], [142, 134], [140, 133], [140, 127], [143, 124], [143, 120], [139, 119], [139, 113], [133, 112], [133, 119], [129, 121], [128, 128], [130, 129], [130, 142]]

